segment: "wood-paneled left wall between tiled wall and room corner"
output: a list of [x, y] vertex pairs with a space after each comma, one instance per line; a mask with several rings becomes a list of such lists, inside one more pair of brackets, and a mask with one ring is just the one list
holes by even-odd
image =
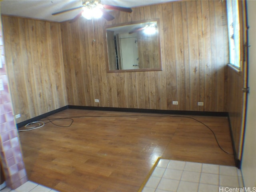
[[60, 24], [2, 16], [16, 122], [66, 106]]

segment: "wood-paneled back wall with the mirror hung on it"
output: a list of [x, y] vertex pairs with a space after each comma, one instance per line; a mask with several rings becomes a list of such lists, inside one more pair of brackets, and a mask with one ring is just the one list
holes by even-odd
[[[61, 23], [68, 104], [227, 111], [226, 2], [169, 2], [132, 10], [112, 12], [112, 22]], [[160, 19], [162, 71], [106, 73], [104, 26], [154, 18]]]

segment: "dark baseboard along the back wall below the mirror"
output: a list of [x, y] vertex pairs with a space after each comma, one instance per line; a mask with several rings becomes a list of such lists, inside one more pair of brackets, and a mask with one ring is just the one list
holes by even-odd
[[69, 105], [68, 108], [84, 109], [84, 110], [99, 110], [99, 111], [175, 114], [175, 115], [222, 116], [222, 117], [228, 116], [228, 112], [210, 112], [210, 111], [179, 111], [179, 110], [158, 110], [158, 109], [93, 107], [93, 106], [76, 106], [76, 105]]

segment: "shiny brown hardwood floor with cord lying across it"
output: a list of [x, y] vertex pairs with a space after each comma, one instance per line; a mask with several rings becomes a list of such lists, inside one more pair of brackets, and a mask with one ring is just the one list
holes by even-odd
[[[61, 192], [136, 192], [158, 157], [234, 166], [212, 132], [190, 118], [75, 109], [48, 118], [75, 116], [112, 117], [76, 117], [70, 127], [54, 125], [70, 119], [54, 120], [19, 132], [29, 180]], [[187, 117], [209, 126], [232, 153], [226, 117]]]

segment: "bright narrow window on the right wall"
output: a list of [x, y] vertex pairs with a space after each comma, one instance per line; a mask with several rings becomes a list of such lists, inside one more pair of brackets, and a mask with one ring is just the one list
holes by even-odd
[[227, 1], [230, 64], [240, 68], [240, 22], [238, 0]]

